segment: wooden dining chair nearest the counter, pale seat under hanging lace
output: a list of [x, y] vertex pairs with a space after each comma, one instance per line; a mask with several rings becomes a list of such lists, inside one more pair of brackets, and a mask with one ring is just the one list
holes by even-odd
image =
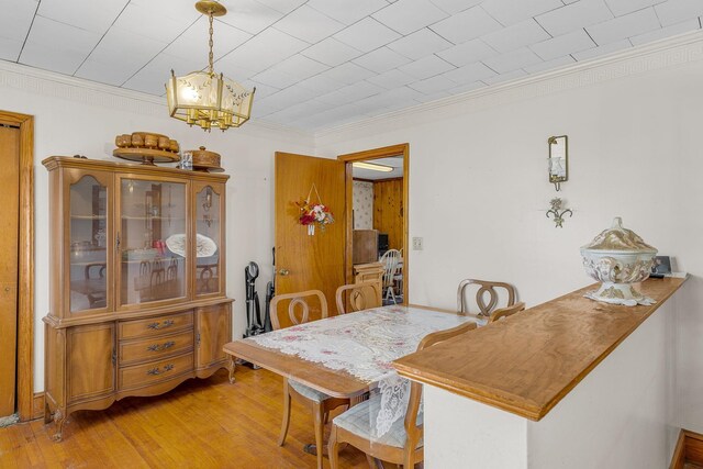
[[[447, 331], [429, 334], [422, 339], [417, 351], [475, 328], [475, 323], [467, 322]], [[339, 445], [343, 443], [366, 453], [367, 459], [376, 458], [397, 465], [402, 464], [404, 469], [412, 469], [415, 462], [422, 461], [424, 459], [424, 431], [423, 414], [420, 412], [422, 384], [411, 381], [405, 418], [395, 421], [391, 428], [380, 437], [373, 436], [375, 432], [371, 427], [376, 422], [372, 416], [378, 415], [381, 405], [380, 395], [362, 401], [335, 417], [332, 421], [328, 443], [332, 469], [339, 467]]]

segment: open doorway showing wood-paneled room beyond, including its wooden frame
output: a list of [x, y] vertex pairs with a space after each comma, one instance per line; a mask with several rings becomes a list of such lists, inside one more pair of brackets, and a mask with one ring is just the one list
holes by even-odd
[[397, 256], [393, 271], [384, 276], [384, 304], [409, 299], [409, 158], [406, 143], [337, 158], [346, 166], [347, 282], [353, 282], [354, 264], [383, 259], [388, 266], [388, 257]]

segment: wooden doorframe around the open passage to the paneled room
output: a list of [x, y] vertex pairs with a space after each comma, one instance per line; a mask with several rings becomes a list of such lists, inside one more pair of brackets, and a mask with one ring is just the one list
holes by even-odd
[[410, 252], [409, 244], [409, 219], [410, 211], [408, 210], [410, 202], [410, 144], [401, 143], [398, 145], [383, 146], [380, 148], [366, 149], [362, 152], [348, 153], [345, 155], [337, 156], [339, 161], [344, 161], [345, 164], [345, 174], [346, 174], [346, 202], [345, 205], [345, 221], [347, 224], [347, 234], [346, 234], [346, 249], [345, 249], [345, 276], [347, 283], [354, 282], [354, 266], [352, 265], [352, 237], [354, 226], [353, 222], [353, 189], [354, 189], [354, 176], [352, 174], [352, 163], [360, 161], [360, 160], [369, 160], [369, 159], [378, 159], [378, 158], [388, 158], [391, 156], [403, 156], [403, 247], [405, 248], [405, 253], [403, 255], [403, 304], [408, 304], [408, 299], [410, 298], [410, 256], [408, 255]]

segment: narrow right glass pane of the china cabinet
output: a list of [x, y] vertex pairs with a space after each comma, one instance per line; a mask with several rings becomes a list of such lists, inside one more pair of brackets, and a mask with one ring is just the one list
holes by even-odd
[[196, 197], [196, 294], [220, 291], [220, 194], [205, 186]]

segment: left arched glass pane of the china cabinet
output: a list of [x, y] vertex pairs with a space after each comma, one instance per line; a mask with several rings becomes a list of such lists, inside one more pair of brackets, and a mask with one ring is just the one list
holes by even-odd
[[70, 311], [107, 306], [108, 189], [92, 176], [70, 186]]

